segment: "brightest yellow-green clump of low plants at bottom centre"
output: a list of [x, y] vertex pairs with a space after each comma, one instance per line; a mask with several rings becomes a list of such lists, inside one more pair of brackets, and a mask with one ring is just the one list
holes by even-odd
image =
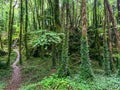
[[41, 81], [41, 85], [46, 89], [53, 90], [70, 90], [75, 86], [75, 82], [72, 82], [67, 78], [57, 78], [57, 75], [50, 76]]

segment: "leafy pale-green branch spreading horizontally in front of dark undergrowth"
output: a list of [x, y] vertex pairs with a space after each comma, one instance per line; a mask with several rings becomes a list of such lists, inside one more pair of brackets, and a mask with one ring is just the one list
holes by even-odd
[[34, 34], [34, 38], [30, 42], [33, 47], [61, 43], [61, 36], [64, 36], [63, 33], [55, 33], [46, 30], [35, 31], [30, 34], [32, 36]]

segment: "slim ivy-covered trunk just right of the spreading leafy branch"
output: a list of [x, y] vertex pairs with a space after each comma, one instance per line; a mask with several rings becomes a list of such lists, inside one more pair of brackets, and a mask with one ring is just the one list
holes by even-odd
[[[63, 39], [63, 45], [62, 45], [62, 55], [61, 55], [61, 66], [58, 71], [58, 77], [67, 77], [69, 73], [69, 67], [68, 67], [68, 51], [69, 51], [69, 0], [67, 0], [66, 3], [66, 29], [64, 29], [65, 37]], [[62, 29], [63, 29], [62, 25]]]

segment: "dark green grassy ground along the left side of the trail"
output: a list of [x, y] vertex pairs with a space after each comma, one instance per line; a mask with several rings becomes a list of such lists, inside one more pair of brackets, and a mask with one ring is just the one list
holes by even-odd
[[[12, 51], [10, 65], [16, 60], [17, 54]], [[4, 90], [12, 74], [11, 66], [6, 65], [7, 55], [0, 57], [0, 90]]]

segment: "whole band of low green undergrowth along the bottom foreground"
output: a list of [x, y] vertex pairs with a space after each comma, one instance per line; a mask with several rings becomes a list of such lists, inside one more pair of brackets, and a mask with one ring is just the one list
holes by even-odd
[[93, 81], [78, 79], [79, 75], [73, 78], [58, 78], [52, 75], [44, 78], [41, 82], [22, 86], [20, 90], [119, 90], [120, 79], [106, 76], [99, 76]]

